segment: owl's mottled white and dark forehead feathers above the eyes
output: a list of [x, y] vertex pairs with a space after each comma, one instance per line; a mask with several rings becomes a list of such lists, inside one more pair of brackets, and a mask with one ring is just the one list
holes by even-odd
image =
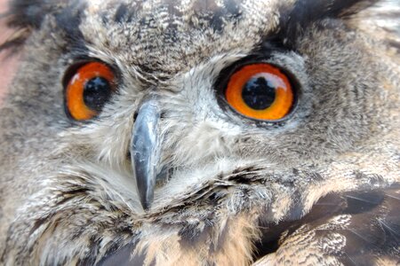
[[92, 51], [174, 74], [221, 53], [252, 51], [278, 27], [280, 6], [276, 0], [91, 0], [80, 29]]

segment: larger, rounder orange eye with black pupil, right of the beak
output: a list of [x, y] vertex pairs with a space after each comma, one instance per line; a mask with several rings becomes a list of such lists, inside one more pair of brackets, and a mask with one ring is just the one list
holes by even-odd
[[247, 65], [233, 74], [225, 90], [228, 104], [252, 119], [276, 121], [292, 110], [291, 82], [276, 66]]

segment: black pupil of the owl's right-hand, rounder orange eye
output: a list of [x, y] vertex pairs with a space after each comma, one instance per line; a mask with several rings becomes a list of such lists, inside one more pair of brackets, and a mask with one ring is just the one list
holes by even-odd
[[244, 84], [242, 97], [252, 109], [264, 110], [274, 103], [276, 87], [268, 82], [268, 77], [258, 74]]

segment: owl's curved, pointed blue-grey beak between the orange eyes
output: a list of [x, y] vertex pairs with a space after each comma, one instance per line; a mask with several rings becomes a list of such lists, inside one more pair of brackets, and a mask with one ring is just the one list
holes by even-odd
[[160, 111], [155, 99], [148, 99], [140, 110], [132, 129], [131, 160], [141, 206], [147, 210], [154, 198], [160, 139], [157, 123]]

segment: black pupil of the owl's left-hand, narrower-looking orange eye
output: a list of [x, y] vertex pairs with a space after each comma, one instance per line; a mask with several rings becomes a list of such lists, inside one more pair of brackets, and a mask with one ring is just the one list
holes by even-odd
[[92, 78], [84, 84], [84, 104], [90, 109], [100, 112], [111, 97], [111, 85], [100, 76]]

